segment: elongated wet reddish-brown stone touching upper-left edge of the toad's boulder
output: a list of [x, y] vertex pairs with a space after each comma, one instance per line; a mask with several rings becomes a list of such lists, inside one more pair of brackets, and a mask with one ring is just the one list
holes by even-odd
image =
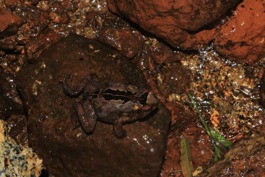
[[35, 62], [40, 53], [53, 43], [57, 42], [59, 38], [60, 35], [51, 29], [46, 29], [41, 32], [37, 38], [27, 42], [25, 46], [27, 60], [31, 63]]

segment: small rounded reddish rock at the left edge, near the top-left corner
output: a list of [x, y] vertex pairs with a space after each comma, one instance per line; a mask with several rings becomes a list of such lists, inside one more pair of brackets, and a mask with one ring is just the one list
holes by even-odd
[[16, 33], [21, 25], [22, 19], [19, 16], [4, 9], [0, 10], [0, 38]]

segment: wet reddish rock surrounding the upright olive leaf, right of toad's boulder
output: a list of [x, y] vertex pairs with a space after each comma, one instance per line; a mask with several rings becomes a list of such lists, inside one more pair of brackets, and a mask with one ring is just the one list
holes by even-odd
[[167, 139], [167, 153], [162, 165], [160, 177], [183, 177], [180, 165], [181, 139], [190, 139], [192, 166], [204, 166], [212, 160], [212, 145], [206, 132], [199, 128], [198, 116], [183, 104], [166, 103], [171, 111], [171, 126]]

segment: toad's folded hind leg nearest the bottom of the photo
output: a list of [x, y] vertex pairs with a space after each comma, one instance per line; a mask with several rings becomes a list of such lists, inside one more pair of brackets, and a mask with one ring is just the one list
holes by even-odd
[[86, 100], [82, 105], [79, 102], [75, 102], [74, 108], [77, 111], [78, 120], [82, 129], [86, 133], [91, 133], [97, 122], [97, 116], [92, 105]]

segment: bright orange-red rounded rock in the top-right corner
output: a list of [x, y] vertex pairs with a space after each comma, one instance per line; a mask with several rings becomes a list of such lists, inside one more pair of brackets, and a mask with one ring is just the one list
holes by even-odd
[[265, 2], [243, 0], [226, 24], [216, 29], [214, 44], [230, 60], [254, 64], [265, 57]]

